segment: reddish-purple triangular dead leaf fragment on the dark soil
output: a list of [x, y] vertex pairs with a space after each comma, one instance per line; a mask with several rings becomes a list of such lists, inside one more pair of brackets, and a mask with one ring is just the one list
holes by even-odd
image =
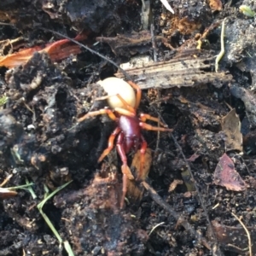
[[247, 184], [242, 180], [239, 173], [236, 172], [233, 161], [225, 153], [218, 161], [213, 174], [213, 182], [228, 190], [242, 191], [247, 189]]

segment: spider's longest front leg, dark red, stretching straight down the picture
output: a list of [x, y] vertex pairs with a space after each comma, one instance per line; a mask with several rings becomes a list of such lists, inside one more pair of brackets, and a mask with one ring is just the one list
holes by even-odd
[[124, 137], [125, 136], [123, 133], [119, 133], [119, 137], [116, 143], [117, 151], [123, 162], [123, 166], [121, 168], [123, 172], [123, 189], [122, 189], [123, 194], [120, 201], [120, 208], [123, 208], [125, 203], [125, 195], [127, 191], [127, 178], [134, 179], [133, 175], [131, 174], [130, 168], [127, 166], [127, 157], [126, 157], [125, 148], [124, 148]]

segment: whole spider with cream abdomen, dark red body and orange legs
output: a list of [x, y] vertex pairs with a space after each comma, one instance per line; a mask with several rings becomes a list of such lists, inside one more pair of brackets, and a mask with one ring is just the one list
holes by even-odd
[[[117, 80], [117, 78], [109, 78], [105, 80], [108, 80], [109, 82], [110, 79], [112, 79], [113, 81]], [[105, 80], [103, 80], [102, 82], [104, 82]], [[128, 84], [121, 79], [118, 79], [118, 81], [119, 84], [117, 85], [116, 90], [114, 89], [114, 84], [112, 84], [111, 87], [104, 87], [104, 84], [102, 83], [102, 87], [104, 87], [104, 89], [108, 92], [108, 96], [98, 98], [98, 100], [101, 100], [114, 97], [114, 102], [108, 102], [109, 105], [113, 108], [113, 110], [109, 108], [102, 108], [97, 111], [89, 112], [85, 114], [84, 117], [80, 118], [79, 122], [83, 121], [84, 119], [87, 119], [88, 117], [93, 117], [103, 113], [107, 113], [110, 119], [113, 119], [117, 122], [117, 128], [113, 131], [113, 133], [108, 139], [108, 148], [104, 150], [98, 161], [101, 162], [104, 159], [104, 157], [108, 155], [109, 152], [113, 149], [113, 143], [115, 137], [117, 137], [116, 148], [123, 162], [123, 196], [120, 202], [120, 206], [123, 207], [125, 201], [127, 178], [134, 178], [131, 174], [130, 168], [127, 166], [126, 158], [126, 154], [130, 152], [131, 148], [134, 148], [136, 151], [138, 148], [140, 148], [141, 162], [140, 170], [137, 175], [137, 180], [140, 180], [143, 175], [143, 165], [145, 162], [147, 142], [145, 141], [143, 135], [141, 134], [141, 129], [150, 131], [172, 131], [172, 129], [166, 128], [166, 125], [161, 123], [160, 119], [154, 118], [149, 114], [141, 113], [140, 117], [137, 117], [137, 108], [141, 102], [142, 90], [138, 87], [137, 84], [134, 84], [131, 81], [128, 81]], [[133, 89], [137, 90], [136, 96], [134, 94], [134, 90], [132, 90], [133, 94], [131, 93], [131, 96], [128, 95], [127, 90], [131, 90], [131, 88], [126, 88], [125, 86], [130, 86], [129, 84]], [[111, 92], [108, 91], [108, 89], [111, 90]], [[134, 99], [132, 97], [134, 97]], [[131, 105], [127, 102], [130, 102]], [[147, 119], [159, 122], [159, 124], [163, 127], [148, 125], [145, 123]]]

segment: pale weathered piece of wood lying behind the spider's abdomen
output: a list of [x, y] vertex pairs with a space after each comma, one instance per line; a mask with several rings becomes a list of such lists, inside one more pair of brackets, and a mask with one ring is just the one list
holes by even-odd
[[[162, 61], [145, 65], [140, 68], [125, 70], [141, 89], [167, 89], [181, 86], [195, 86], [211, 83], [220, 88], [232, 80], [230, 73], [212, 73], [212, 58], [181, 57], [171, 61]], [[124, 78], [123, 73], [116, 77]]]

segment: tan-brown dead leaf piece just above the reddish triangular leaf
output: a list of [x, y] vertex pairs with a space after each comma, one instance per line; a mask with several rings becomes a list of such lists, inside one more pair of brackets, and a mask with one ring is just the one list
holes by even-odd
[[242, 151], [241, 122], [235, 108], [222, 119], [222, 129], [225, 134], [226, 151]]

